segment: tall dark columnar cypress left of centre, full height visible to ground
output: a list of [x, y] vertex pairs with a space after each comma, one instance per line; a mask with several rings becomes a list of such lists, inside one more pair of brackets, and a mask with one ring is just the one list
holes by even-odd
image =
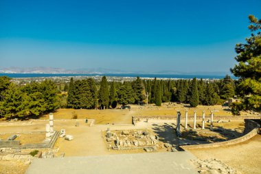
[[101, 107], [107, 109], [109, 108], [109, 87], [106, 76], [102, 77], [102, 81], [100, 83], [99, 101]]

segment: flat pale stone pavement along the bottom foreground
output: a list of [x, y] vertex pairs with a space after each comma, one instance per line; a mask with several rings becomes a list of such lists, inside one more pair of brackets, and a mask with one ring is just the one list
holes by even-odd
[[196, 157], [189, 152], [135, 153], [88, 157], [34, 159], [26, 174], [44, 173], [197, 173], [190, 160]]

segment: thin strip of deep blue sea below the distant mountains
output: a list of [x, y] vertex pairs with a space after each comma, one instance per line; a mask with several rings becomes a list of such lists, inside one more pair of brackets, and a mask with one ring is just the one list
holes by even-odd
[[[73, 77], [73, 76], [114, 76], [114, 77], [142, 77], [142, 78], [203, 78], [203, 79], [222, 79], [225, 75], [196, 75], [196, 74], [0, 74], [0, 76], [8, 76], [10, 78], [38, 78], [38, 77]], [[237, 79], [235, 76], [231, 76]]]

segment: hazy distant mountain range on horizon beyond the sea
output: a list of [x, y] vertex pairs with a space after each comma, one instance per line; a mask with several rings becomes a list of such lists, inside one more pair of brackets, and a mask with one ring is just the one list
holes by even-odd
[[230, 74], [230, 72], [137, 72], [123, 71], [120, 69], [90, 68], [90, 69], [63, 69], [56, 67], [0, 67], [1, 74], [181, 74], [181, 75], [220, 75]]

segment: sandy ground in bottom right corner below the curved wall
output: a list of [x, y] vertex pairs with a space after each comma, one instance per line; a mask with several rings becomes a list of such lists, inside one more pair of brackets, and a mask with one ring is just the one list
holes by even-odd
[[213, 149], [194, 149], [190, 152], [201, 160], [216, 158], [241, 173], [261, 173], [261, 135], [240, 144]]

